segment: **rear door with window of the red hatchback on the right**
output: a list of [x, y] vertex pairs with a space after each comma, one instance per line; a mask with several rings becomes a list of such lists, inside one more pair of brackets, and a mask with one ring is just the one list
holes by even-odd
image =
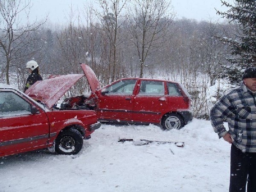
[[139, 84], [132, 119], [136, 122], [159, 123], [168, 105], [164, 81], [141, 80]]

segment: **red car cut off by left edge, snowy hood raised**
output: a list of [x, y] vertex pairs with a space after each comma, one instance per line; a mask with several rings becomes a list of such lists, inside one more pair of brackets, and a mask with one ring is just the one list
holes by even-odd
[[[37, 81], [26, 91], [37, 102], [9, 85], [0, 84], [0, 157], [43, 148], [59, 154], [77, 154], [83, 139], [89, 139], [100, 127], [96, 112], [64, 111], [52, 106], [82, 76]], [[57, 81], [62, 83], [55, 89], [52, 83]]]

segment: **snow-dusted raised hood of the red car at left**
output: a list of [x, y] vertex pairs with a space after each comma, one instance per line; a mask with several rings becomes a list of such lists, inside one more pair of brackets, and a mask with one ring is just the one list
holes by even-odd
[[25, 93], [32, 99], [44, 102], [49, 108], [70, 89], [84, 74], [51, 76], [50, 79], [36, 81]]

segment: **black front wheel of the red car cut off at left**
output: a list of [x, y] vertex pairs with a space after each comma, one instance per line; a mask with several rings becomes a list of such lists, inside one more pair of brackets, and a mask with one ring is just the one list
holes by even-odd
[[62, 131], [55, 142], [55, 151], [58, 154], [77, 154], [83, 147], [83, 136], [75, 128]]

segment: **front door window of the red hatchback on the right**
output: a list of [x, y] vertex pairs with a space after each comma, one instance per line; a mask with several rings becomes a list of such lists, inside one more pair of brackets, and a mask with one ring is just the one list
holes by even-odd
[[106, 89], [106, 95], [132, 95], [136, 79], [118, 81]]

